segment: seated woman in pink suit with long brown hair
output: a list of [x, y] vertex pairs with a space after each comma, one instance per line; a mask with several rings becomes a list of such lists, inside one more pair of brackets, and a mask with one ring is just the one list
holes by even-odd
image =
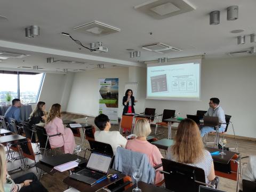
[[[64, 146], [64, 152], [73, 154], [76, 143], [73, 132], [64, 127], [62, 123], [61, 112], [60, 112], [60, 104], [55, 103], [52, 105], [49, 115], [45, 122], [45, 130], [47, 135], [54, 135], [57, 133], [61, 133], [61, 135], [50, 137], [49, 142], [51, 147], [62, 147]], [[62, 137], [63, 136], [63, 137]]]

